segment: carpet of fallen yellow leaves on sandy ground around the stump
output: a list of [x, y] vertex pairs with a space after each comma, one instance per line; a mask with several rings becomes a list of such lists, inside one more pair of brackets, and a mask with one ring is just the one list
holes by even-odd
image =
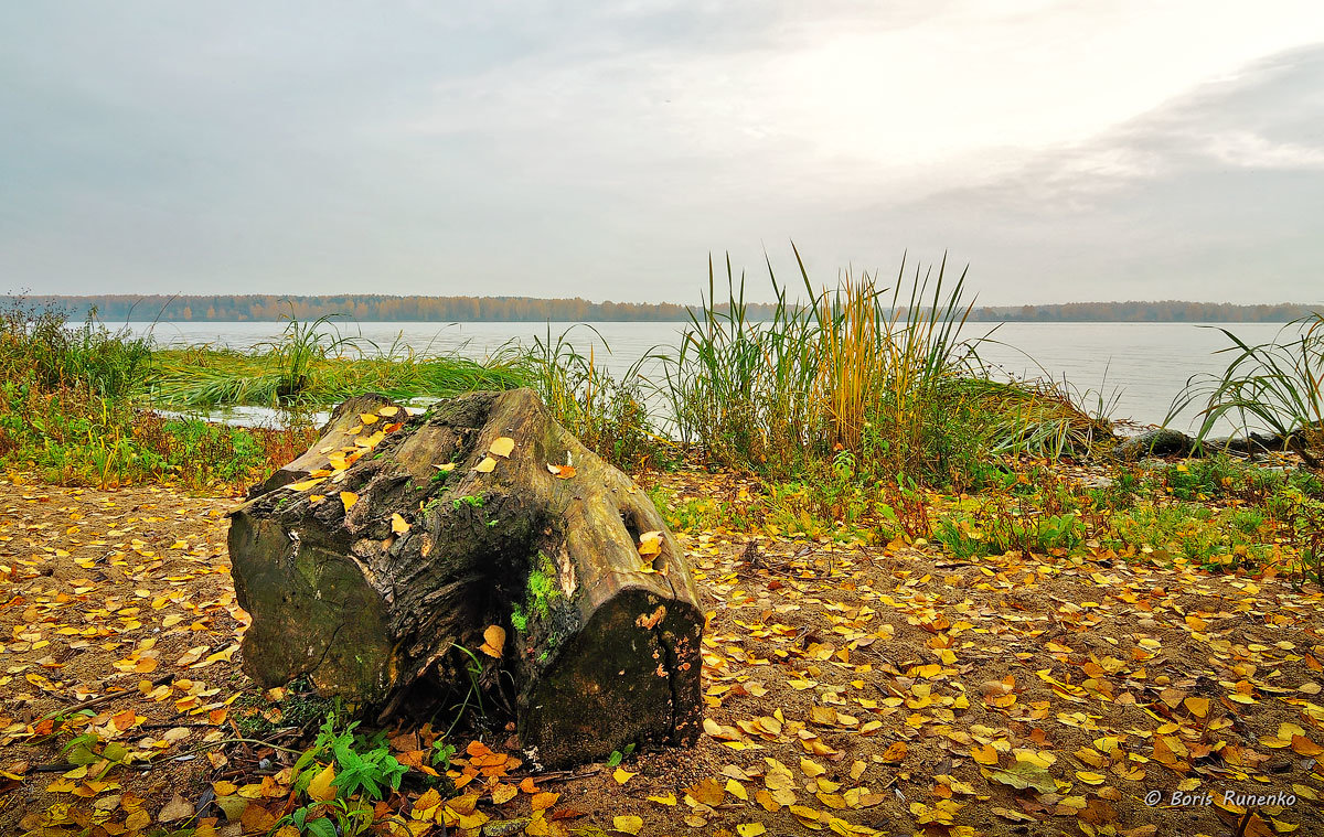
[[[230, 502], [0, 485], [0, 832], [266, 833], [290, 807], [289, 756], [236, 740], [242, 707], [281, 709], [238, 671]], [[1317, 592], [1106, 551], [677, 540], [708, 611], [695, 748], [539, 776], [514, 740], [471, 742], [446, 771], [455, 796], [393, 795], [383, 833], [1324, 832]], [[493, 654], [504, 636], [485, 640]], [[436, 739], [397, 730], [392, 751], [437, 773]]]

